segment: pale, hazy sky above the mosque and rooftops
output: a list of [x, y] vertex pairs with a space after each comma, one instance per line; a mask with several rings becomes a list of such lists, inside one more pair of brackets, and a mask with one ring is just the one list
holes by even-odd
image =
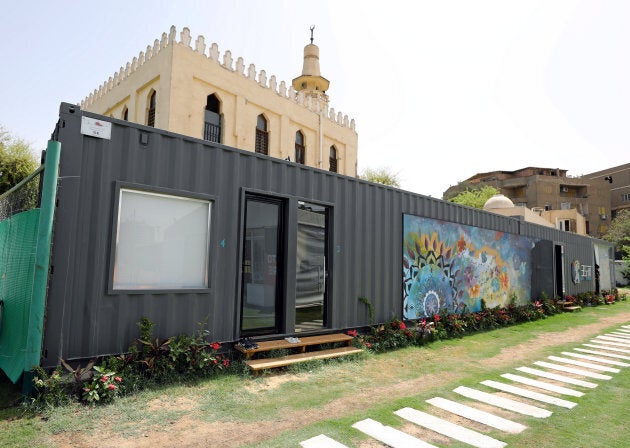
[[387, 168], [441, 198], [480, 172], [630, 162], [626, 0], [5, 3], [0, 125], [37, 153], [61, 102], [79, 103], [171, 25], [287, 84], [315, 25], [330, 106], [356, 121], [359, 171]]

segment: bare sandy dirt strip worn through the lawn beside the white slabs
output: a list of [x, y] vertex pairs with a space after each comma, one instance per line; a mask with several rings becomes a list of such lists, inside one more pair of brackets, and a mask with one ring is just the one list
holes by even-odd
[[[570, 328], [559, 333], [545, 333], [538, 338], [502, 350], [498, 355], [485, 359], [484, 365], [493, 368], [514, 366], [519, 360], [528, 358], [531, 353], [540, 350], [542, 347], [582, 341], [590, 335], [598, 334], [603, 328], [629, 321], [630, 313], [622, 313], [615, 316], [602, 317], [594, 324]], [[378, 364], [378, 358], [374, 362]], [[378, 365], [377, 368], [385, 368], [385, 366]], [[184, 417], [173, 422], [167, 430], [151, 431], [139, 437], [124, 438], [105, 427], [89, 435], [71, 431], [64, 432], [53, 436], [53, 440], [56, 446], [60, 448], [96, 446], [99, 448], [149, 448], [162, 446], [232, 448], [271, 439], [283, 431], [296, 430], [321, 420], [342, 417], [356, 412], [357, 409], [371, 407], [379, 400], [392, 400], [416, 395], [423, 390], [439, 387], [454, 381], [458, 376], [465, 376], [465, 373], [449, 372], [422, 375], [412, 380], [393, 380], [386, 382], [382, 386], [369, 385], [369, 387], [355, 389], [352, 395], [340, 397], [321, 408], [306, 409], [299, 413], [294, 412], [276, 420], [261, 420], [256, 423], [222, 421], [208, 423], [193, 417]], [[305, 374], [270, 376], [265, 380], [262, 387], [269, 389], [278, 387], [287, 381], [307, 379], [308, 375]], [[181, 406], [190, 406], [190, 403], [174, 402], [161, 403], [160, 405], [177, 409]], [[364, 446], [367, 448], [370, 445]]]

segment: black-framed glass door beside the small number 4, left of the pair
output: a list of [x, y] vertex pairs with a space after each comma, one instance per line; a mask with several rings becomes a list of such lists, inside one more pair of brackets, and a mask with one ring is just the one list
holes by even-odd
[[279, 333], [282, 201], [248, 196], [243, 236], [241, 333]]

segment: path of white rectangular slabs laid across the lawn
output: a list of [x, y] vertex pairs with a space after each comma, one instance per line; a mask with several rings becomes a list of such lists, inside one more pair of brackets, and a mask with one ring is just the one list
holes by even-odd
[[[529, 374], [534, 378], [514, 375], [512, 373], [504, 373], [501, 375], [502, 378], [510, 380], [513, 383], [529, 386], [530, 388], [528, 389], [514, 384], [485, 380], [480, 384], [491, 390], [491, 392], [465, 386], [459, 386], [455, 388], [453, 392], [458, 396], [467, 398], [469, 401], [473, 400], [484, 403], [486, 406], [490, 405], [496, 408], [507, 409], [515, 414], [536, 418], [548, 418], [552, 415], [552, 411], [523, 403], [518, 400], [518, 397], [539, 401], [545, 405], [572, 409], [577, 406], [577, 403], [547, 393], [535, 392], [531, 388], [572, 397], [581, 397], [584, 396], [585, 393], [569, 387], [558, 386], [557, 384], [542, 381], [541, 378], [592, 390], [597, 387], [597, 383], [581, 380], [574, 376], [567, 376], [566, 373], [595, 380], [610, 380], [613, 378], [612, 376], [599, 372], [619, 373], [621, 368], [630, 367], [630, 325], [622, 325], [621, 328], [615, 332], [597, 336], [590, 342], [591, 343], [582, 344], [583, 347], [589, 348], [576, 347], [574, 348], [574, 352], [562, 352], [562, 357], [548, 357], [549, 360], [555, 361], [558, 364], [547, 361], [534, 362], [535, 365], [548, 370], [526, 366], [517, 367], [515, 369], [521, 373]], [[579, 366], [580, 368], [578, 369], [571, 366]], [[562, 374], [550, 372], [549, 370], [562, 372]], [[497, 395], [496, 391], [500, 391], [501, 395]], [[514, 398], [507, 398], [506, 395]], [[464, 417], [467, 420], [477, 422], [478, 424], [488, 427], [489, 430], [495, 429], [510, 434], [519, 434], [527, 429], [527, 426], [521, 423], [443, 397], [434, 397], [426, 402], [434, 408], [446, 411], [454, 416]], [[507, 446], [505, 442], [490, 437], [478, 429], [473, 430], [465, 427], [463, 424], [455, 424], [446, 418], [436, 417], [424, 410], [406, 407], [395, 411], [394, 414], [401, 418], [401, 423], [403, 421], [411, 422], [441, 434], [443, 437], [445, 436], [474, 447], [503, 448]], [[391, 426], [383, 425], [370, 418], [361, 420], [352, 425], [352, 427], [393, 448], [437, 448], [429, 442], [420, 440], [411, 434]], [[304, 440], [300, 442], [300, 446], [303, 448], [346, 447], [346, 445], [331, 439], [325, 434]]]

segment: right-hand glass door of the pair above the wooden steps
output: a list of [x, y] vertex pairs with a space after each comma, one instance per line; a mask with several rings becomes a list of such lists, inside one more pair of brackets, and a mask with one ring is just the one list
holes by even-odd
[[325, 328], [326, 208], [305, 202], [297, 210], [295, 331]]

